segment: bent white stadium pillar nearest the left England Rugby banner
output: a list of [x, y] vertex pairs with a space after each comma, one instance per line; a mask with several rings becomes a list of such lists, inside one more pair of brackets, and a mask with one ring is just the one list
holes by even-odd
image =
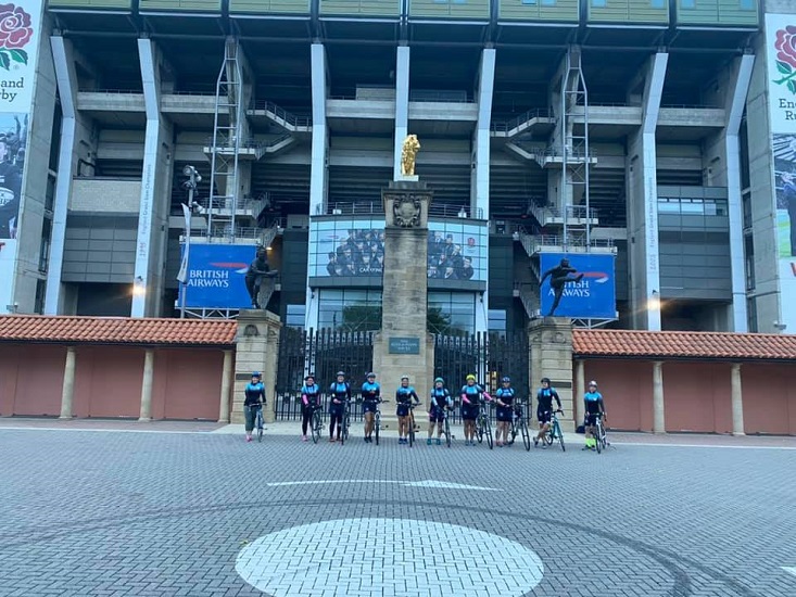
[[[58, 315], [61, 304], [61, 272], [66, 242], [66, 215], [72, 190], [72, 161], [75, 152], [77, 74], [72, 56], [72, 43], [61, 36], [50, 38], [52, 59], [55, 65], [58, 93], [61, 98], [61, 142], [58, 158], [58, 178], [52, 208], [52, 234], [50, 237], [50, 258], [45, 294], [45, 315]], [[70, 417], [72, 414], [70, 414]]]

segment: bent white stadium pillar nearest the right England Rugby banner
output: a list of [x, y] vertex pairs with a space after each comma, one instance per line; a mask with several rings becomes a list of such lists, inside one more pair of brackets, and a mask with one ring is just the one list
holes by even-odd
[[725, 107], [724, 155], [726, 160], [726, 198], [730, 220], [730, 269], [732, 276], [731, 331], [747, 332], [746, 267], [744, 263], [744, 207], [741, 200], [741, 119], [749, 91], [755, 55], [741, 56], [732, 92]]

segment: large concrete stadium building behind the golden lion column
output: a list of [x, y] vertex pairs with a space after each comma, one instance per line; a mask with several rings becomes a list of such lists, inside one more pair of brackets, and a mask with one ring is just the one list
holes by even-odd
[[378, 328], [414, 134], [446, 329], [546, 315], [566, 255], [581, 325], [796, 331], [789, 0], [40, 1], [0, 14], [0, 310], [235, 316], [262, 245], [282, 321]]

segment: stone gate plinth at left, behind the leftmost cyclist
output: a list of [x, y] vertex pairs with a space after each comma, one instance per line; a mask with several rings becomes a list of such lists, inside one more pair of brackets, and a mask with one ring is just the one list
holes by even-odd
[[266, 422], [274, 421], [274, 389], [278, 357], [279, 330], [282, 325], [273, 313], [243, 309], [238, 315], [238, 336], [235, 345], [235, 383], [230, 422], [243, 424], [244, 390], [253, 371], [263, 374], [268, 406], [263, 410]]

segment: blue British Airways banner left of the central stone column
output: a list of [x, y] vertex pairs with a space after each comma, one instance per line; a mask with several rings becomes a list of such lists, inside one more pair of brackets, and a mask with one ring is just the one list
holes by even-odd
[[[245, 272], [254, 261], [251, 244], [191, 244], [188, 258], [186, 307], [239, 309], [251, 307]], [[185, 251], [185, 247], [184, 247]]]

